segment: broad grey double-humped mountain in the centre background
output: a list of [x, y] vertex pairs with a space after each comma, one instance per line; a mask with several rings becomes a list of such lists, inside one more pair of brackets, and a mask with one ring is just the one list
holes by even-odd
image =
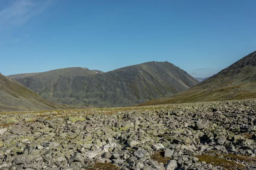
[[63, 68], [16, 80], [45, 99], [74, 107], [135, 105], [184, 91], [198, 83], [169, 62], [145, 62], [97, 72]]

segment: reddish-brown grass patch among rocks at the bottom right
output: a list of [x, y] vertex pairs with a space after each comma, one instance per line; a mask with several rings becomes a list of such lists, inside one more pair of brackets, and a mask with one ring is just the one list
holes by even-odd
[[244, 168], [245, 168], [244, 165], [242, 165], [242, 164], [238, 164], [235, 161], [227, 160], [218, 155], [215, 155], [215, 156], [199, 155], [199, 156], [195, 156], [195, 157], [198, 158], [200, 162], [204, 161], [207, 164], [221, 166], [221, 167], [226, 168], [227, 170], [244, 170]]

